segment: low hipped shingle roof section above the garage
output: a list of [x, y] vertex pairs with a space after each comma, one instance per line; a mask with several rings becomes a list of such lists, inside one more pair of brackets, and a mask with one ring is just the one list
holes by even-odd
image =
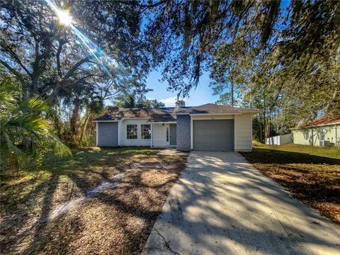
[[232, 106], [219, 106], [214, 103], [206, 103], [203, 106], [194, 106], [190, 108], [179, 108], [178, 113], [204, 114], [204, 113], [259, 113], [259, 110], [252, 108], [237, 108]]

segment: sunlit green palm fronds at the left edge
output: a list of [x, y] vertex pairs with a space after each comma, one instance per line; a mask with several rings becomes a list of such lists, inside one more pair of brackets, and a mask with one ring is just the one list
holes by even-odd
[[42, 98], [33, 96], [18, 103], [16, 94], [20, 94], [20, 90], [11, 88], [10, 82], [0, 85], [0, 149], [12, 166], [18, 169], [19, 159], [46, 148], [58, 157], [72, 156], [45, 118], [50, 106]]

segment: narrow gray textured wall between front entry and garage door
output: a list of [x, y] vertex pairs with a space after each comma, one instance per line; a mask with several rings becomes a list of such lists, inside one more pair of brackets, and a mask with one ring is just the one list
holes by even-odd
[[177, 149], [189, 151], [191, 149], [191, 117], [190, 115], [177, 115]]

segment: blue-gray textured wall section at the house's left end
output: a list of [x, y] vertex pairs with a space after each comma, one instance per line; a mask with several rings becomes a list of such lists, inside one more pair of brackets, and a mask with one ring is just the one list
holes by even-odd
[[118, 123], [98, 123], [97, 145], [99, 147], [118, 146]]

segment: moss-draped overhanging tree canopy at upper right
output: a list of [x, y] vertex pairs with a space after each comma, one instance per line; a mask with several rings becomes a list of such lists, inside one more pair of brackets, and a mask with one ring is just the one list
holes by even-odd
[[313, 103], [313, 114], [339, 114], [339, 1], [161, 1], [149, 11], [149, 50], [169, 89], [187, 96], [215, 64], [217, 90], [238, 79], [253, 98], [259, 86], [300, 91], [291, 100], [304, 113]]

